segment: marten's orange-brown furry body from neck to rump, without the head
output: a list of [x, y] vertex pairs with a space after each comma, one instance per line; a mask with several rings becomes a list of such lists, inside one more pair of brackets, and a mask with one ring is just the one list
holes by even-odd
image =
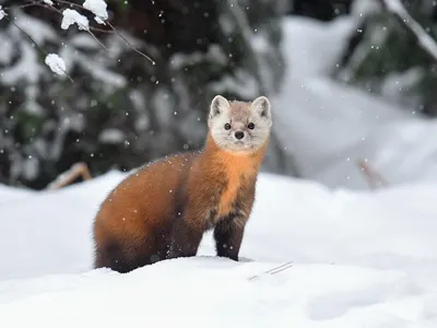
[[[169, 245], [177, 239], [173, 234], [182, 234], [178, 238], [184, 247], [197, 245], [209, 225], [220, 224], [236, 209], [236, 224], [243, 229], [267, 147], [268, 141], [255, 152], [227, 152], [208, 133], [202, 152], [165, 157], [128, 176], [95, 218], [95, 267], [127, 272], [172, 257]], [[187, 254], [196, 253], [196, 245]]]

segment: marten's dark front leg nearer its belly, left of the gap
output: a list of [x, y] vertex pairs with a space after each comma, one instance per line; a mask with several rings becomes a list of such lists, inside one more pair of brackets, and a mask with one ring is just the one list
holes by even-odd
[[169, 241], [167, 258], [191, 257], [198, 253], [204, 229], [189, 223], [185, 218], [176, 219]]

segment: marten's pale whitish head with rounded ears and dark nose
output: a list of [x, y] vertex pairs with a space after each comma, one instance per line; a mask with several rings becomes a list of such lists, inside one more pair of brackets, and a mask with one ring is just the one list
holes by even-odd
[[270, 102], [260, 96], [252, 103], [228, 102], [216, 95], [208, 119], [211, 137], [224, 150], [253, 152], [263, 147], [272, 126]]

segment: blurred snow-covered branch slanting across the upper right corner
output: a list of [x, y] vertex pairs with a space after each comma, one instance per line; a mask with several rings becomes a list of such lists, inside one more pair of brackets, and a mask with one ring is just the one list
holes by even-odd
[[391, 11], [414, 34], [421, 47], [437, 61], [437, 43], [418, 24], [403, 7], [400, 0], [380, 0], [382, 5]]

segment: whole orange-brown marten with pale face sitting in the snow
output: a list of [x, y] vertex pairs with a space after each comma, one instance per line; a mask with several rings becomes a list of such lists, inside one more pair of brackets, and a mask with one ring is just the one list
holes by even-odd
[[196, 256], [210, 229], [217, 256], [237, 261], [271, 126], [267, 97], [246, 103], [216, 95], [202, 151], [139, 168], [101, 204], [93, 226], [94, 267], [123, 273]]

